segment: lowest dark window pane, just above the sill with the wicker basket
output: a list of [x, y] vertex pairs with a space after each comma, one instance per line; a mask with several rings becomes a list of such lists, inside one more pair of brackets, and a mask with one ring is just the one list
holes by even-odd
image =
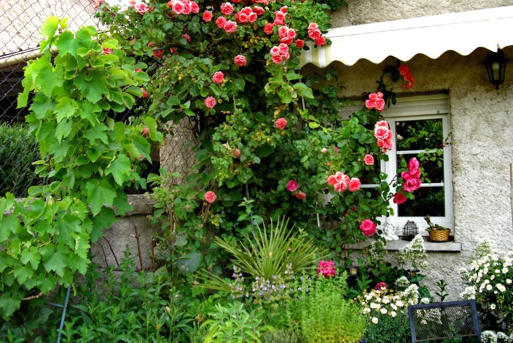
[[444, 187], [421, 187], [415, 199], [398, 206], [399, 217], [445, 217]]

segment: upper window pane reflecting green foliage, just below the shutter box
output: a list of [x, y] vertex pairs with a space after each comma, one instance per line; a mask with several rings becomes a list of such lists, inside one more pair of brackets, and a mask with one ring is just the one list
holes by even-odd
[[433, 149], [443, 141], [442, 119], [396, 122], [397, 150]]

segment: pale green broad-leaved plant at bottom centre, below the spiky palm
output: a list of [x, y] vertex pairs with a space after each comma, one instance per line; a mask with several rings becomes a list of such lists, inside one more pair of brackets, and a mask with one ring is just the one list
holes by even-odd
[[261, 343], [262, 334], [271, 329], [263, 324], [263, 312], [247, 312], [240, 302], [219, 303], [215, 309], [201, 326], [208, 330], [204, 343]]

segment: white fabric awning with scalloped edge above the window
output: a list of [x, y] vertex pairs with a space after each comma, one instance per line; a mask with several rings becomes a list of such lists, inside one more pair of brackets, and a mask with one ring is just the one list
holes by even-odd
[[325, 36], [332, 44], [313, 48], [308, 42], [301, 65], [380, 63], [390, 55], [408, 61], [418, 53], [436, 59], [448, 50], [468, 55], [478, 47], [497, 51], [513, 45], [513, 6], [339, 27]]

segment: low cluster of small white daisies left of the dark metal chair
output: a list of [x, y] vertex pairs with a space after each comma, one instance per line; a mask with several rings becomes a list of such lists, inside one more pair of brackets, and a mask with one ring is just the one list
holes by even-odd
[[388, 315], [394, 318], [398, 314], [405, 314], [408, 305], [418, 303], [419, 289], [416, 284], [411, 284], [403, 292], [394, 292], [390, 289], [372, 290], [359, 299], [363, 313], [371, 317], [374, 324], [377, 324], [380, 315]]

